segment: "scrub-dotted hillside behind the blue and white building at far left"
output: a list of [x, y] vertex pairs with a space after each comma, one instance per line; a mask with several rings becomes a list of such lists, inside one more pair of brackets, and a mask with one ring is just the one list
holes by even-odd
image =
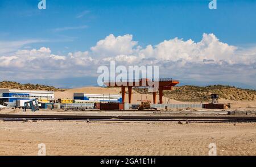
[[7, 89], [20, 89], [20, 90], [48, 90], [48, 91], [65, 91], [64, 89], [59, 89], [53, 86], [39, 85], [39, 84], [20, 84], [18, 82], [12, 81], [2, 81], [0, 82], [0, 88]]

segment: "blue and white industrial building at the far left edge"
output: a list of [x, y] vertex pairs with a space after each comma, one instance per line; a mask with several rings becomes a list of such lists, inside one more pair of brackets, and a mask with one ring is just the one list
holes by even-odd
[[0, 89], [0, 102], [14, 103], [18, 100], [53, 99], [54, 91]]

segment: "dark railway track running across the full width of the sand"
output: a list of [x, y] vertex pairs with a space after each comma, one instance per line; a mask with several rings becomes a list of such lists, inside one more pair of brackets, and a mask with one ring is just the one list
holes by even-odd
[[189, 121], [189, 122], [256, 122], [256, 116], [102, 116], [102, 115], [18, 115], [1, 114], [0, 120], [117, 120], [117, 121]]

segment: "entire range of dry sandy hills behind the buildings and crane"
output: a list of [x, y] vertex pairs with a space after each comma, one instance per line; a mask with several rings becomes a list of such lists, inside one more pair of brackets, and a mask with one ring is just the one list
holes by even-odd
[[[2, 81], [0, 82], [0, 88], [20, 89], [20, 90], [49, 90], [49, 91], [63, 91], [63, 93], [57, 93], [58, 98], [72, 98], [73, 93], [88, 93], [88, 94], [121, 94], [121, 89], [109, 87], [83, 87], [76, 89], [59, 89], [53, 86], [46, 85], [33, 85], [30, 83], [20, 84], [18, 82]], [[230, 101], [256, 101], [256, 90], [241, 89], [234, 86], [224, 85], [211, 85], [211, 86], [175, 86], [174, 90], [164, 90], [164, 96], [168, 99], [175, 99], [176, 101], [183, 102], [201, 102], [209, 101], [210, 94], [216, 93], [220, 95], [221, 99]], [[141, 94], [144, 94], [142, 97]], [[139, 99], [152, 100], [152, 93], [148, 93], [147, 89], [134, 89], [134, 101]], [[165, 100], [165, 99], [164, 99]]]

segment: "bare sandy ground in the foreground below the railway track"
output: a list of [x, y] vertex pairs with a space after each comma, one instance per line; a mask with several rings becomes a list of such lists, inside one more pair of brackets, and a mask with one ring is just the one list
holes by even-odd
[[256, 155], [255, 123], [2, 122], [0, 155]]

